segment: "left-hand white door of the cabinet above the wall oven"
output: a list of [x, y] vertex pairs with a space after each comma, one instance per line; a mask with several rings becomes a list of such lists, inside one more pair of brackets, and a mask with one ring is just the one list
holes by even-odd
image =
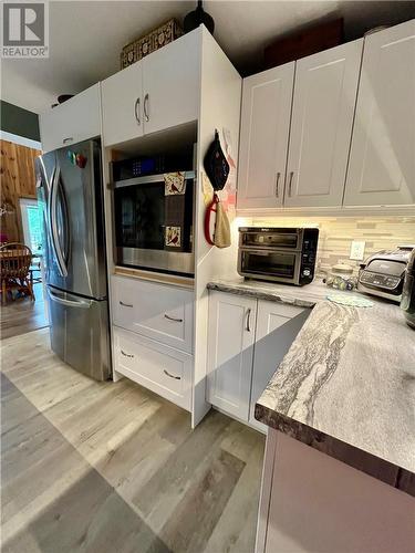
[[105, 146], [143, 136], [143, 62], [103, 81], [102, 113]]

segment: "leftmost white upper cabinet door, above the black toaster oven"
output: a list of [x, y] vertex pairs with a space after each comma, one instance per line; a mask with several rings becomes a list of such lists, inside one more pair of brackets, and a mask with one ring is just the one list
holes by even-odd
[[238, 208], [280, 207], [294, 62], [243, 80]]

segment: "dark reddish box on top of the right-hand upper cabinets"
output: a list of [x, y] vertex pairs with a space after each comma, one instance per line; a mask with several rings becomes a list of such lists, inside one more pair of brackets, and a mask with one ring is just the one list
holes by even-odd
[[320, 23], [279, 39], [263, 51], [264, 69], [276, 67], [343, 43], [343, 19]]

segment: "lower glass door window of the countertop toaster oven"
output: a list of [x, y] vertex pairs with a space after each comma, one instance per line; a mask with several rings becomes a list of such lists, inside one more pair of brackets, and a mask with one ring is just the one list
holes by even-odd
[[295, 253], [243, 251], [242, 272], [293, 279], [295, 274]]

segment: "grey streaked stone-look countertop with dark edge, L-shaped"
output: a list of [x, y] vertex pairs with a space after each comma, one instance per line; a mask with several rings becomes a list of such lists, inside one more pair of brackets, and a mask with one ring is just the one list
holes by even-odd
[[375, 298], [373, 307], [339, 305], [321, 282], [208, 288], [314, 305], [258, 399], [256, 418], [415, 497], [415, 332], [398, 305]]

